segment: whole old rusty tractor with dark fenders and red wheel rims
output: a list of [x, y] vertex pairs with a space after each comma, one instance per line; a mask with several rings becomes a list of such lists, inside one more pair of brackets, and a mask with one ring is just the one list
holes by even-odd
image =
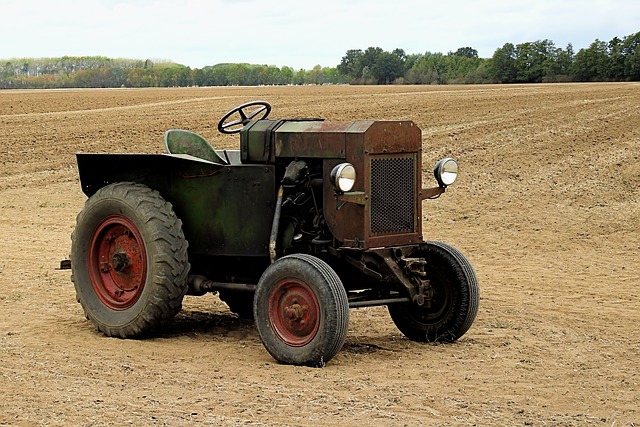
[[308, 366], [340, 350], [353, 307], [388, 306], [411, 340], [461, 337], [478, 310], [475, 273], [422, 237], [422, 201], [455, 181], [457, 163], [438, 161], [438, 186], [422, 188], [413, 122], [270, 111], [254, 101], [220, 120], [239, 150], [169, 130], [167, 154], [77, 155], [88, 200], [70, 266], [87, 318], [144, 337], [186, 294], [217, 292], [278, 362]]

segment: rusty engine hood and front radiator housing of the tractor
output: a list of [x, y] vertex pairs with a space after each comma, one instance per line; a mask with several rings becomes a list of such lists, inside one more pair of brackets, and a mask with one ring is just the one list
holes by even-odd
[[[323, 212], [344, 245], [368, 249], [421, 238], [421, 131], [410, 121], [261, 120], [241, 135], [244, 162], [323, 159]], [[358, 176], [351, 195], [336, 197], [327, 177], [338, 163]]]

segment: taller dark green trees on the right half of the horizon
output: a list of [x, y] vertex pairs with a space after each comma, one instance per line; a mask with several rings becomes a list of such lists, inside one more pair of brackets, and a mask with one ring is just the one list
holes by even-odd
[[550, 83], [640, 80], [640, 32], [595, 40], [574, 52], [545, 39], [505, 43], [491, 58], [479, 58], [471, 47], [448, 54], [407, 55], [370, 47], [349, 50], [338, 65], [352, 84]]

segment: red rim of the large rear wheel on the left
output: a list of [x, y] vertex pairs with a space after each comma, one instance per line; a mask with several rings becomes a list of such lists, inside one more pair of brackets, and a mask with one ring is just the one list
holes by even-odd
[[142, 236], [127, 218], [105, 218], [91, 236], [89, 277], [98, 298], [113, 310], [136, 303], [147, 275], [147, 254]]

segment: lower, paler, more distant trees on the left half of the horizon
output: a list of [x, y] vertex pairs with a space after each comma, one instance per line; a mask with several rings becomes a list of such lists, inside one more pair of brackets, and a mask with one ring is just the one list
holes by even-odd
[[338, 84], [336, 68], [293, 70], [270, 65], [217, 64], [191, 69], [170, 61], [101, 56], [0, 60], [0, 89], [186, 87]]

